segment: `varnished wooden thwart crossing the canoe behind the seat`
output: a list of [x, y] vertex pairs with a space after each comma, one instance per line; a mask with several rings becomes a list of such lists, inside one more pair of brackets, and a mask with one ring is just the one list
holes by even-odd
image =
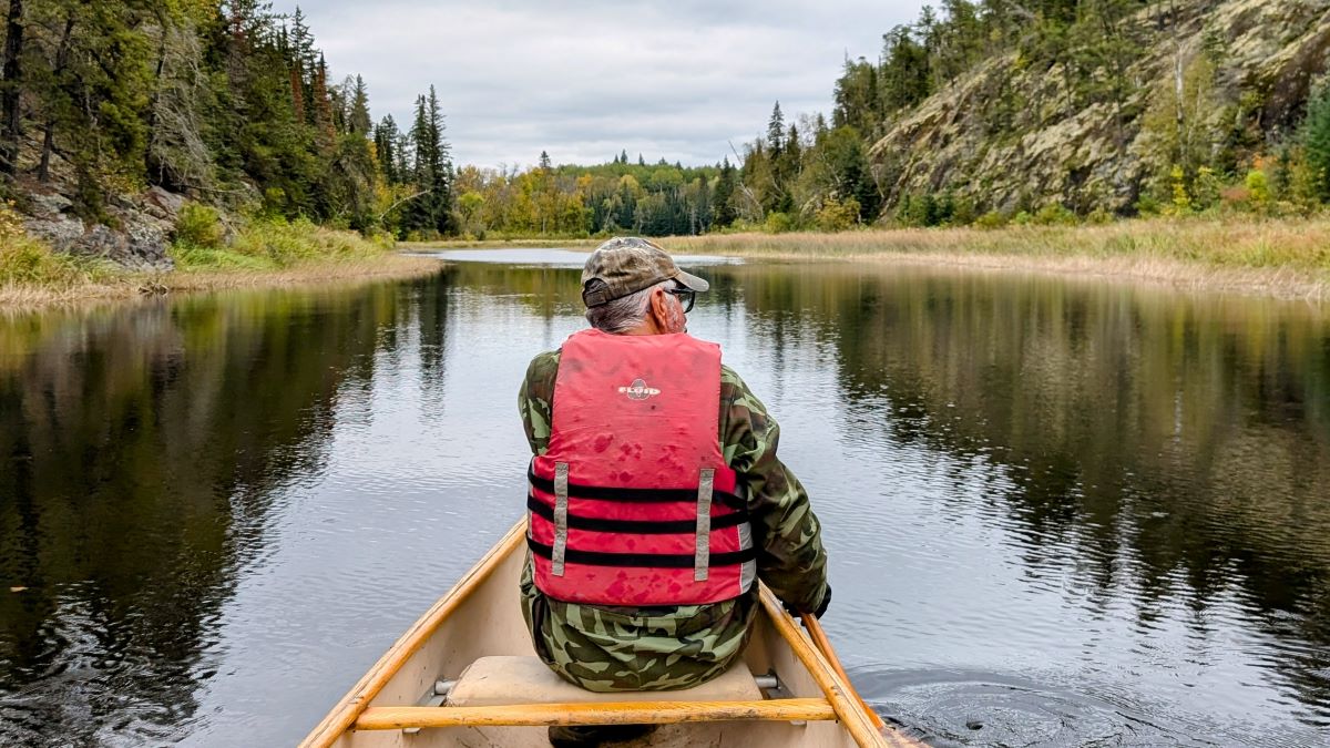
[[818, 721], [837, 719], [826, 699], [763, 701], [606, 701], [509, 707], [370, 707], [354, 729], [412, 727], [549, 727], [575, 724], [676, 724], [702, 721]]

